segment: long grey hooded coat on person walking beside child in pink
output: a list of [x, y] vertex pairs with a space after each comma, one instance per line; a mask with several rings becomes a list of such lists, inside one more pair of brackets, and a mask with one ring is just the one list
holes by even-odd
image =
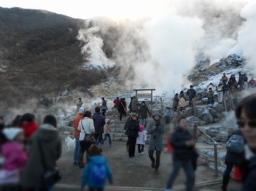
[[[159, 121], [155, 121], [155, 116], [158, 115], [160, 116]], [[155, 112], [152, 116], [154, 121], [150, 122], [149, 128], [147, 130], [147, 133], [150, 134], [150, 139], [149, 139], [149, 150], [158, 150], [162, 151], [162, 134], [164, 134], [164, 123], [161, 122], [161, 115], [158, 112]], [[156, 129], [154, 130], [153, 127], [159, 124]], [[154, 138], [155, 137], [155, 138]]]

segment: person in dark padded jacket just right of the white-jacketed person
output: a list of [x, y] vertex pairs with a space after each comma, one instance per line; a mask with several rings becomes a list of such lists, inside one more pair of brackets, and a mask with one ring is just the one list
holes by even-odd
[[101, 115], [100, 107], [95, 108], [95, 113], [92, 116], [94, 119], [94, 128], [95, 128], [95, 141], [96, 143], [100, 143], [103, 140], [103, 133], [104, 133], [104, 125], [106, 124], [106, 119], [103, 115]]

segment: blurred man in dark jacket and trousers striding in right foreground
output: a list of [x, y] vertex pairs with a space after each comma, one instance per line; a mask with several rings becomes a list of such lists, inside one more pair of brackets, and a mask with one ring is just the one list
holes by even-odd
[[173, 146], [173, 172], [167, 181], [166, 191], [170, 191], [173, 182], [176, 179], [180, 168], [182, 167], [186, 174], [186, 190], [191, 191], [193, 187], [194, 172], [192, 168], [192, 150], [195, 145], [192, 141], [192, 135], [187, 130], [188, 122], [186, 118], [179, 118], [177, 127], [171, 134], [171, 145]]

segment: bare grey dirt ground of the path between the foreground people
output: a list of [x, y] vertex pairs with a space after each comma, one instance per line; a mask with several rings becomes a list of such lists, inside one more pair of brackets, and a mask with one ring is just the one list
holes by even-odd
[[[156, 175], [150, 167], [150, 159], [147, 156], [148, 145], [145, 146], [144, 155], [137, 155], [134, 158], [129, 158], [124, 142], [113, 142], [114, 147], [109, 147], [107, 142], [103, 146], [103, 155], [107, 157], [110, 168], [113, 172], [115, 187], [143, 187], [156, 188], [155, 190], [164, 190], [168, 176], [171, 173], [171, 154], [161, 153], [161, 164], [159, 174]], [[137, 147], [136, 147], [137, 149]], [[58, 167], [63, 174], [62, 180], [56, 185], [56, 190], [78, 190], [82, 178], [82, 169], [73, 165], [74, 150], [67, 152], [67, 145], [62, 141], [62, 156], [58, 161]], [[207, 167], [198, 166], [196, 171], [196, 183], [204, 181], [218, 180], [222, 178], [214, 177], [214, 171]], [[180, 171], [179, 176], [174, 182], [174, 190], [180, 185], [185, 184], [185, 174]], [[237, 188], [237, 185], [234, 184]], [[177, 188], [177, 189], [175, 189]], [[200, 187], [195, 190], [202, 190]], [[220, 185], [207, 186], [207, 189], [221, 190]], [[111, 189], [110, 189], [111, 190]], [[181, 189], [182, 190], [182, 189]]]

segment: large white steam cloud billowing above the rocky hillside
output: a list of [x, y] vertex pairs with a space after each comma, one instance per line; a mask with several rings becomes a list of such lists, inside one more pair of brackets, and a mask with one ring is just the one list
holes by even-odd
[[86, 23], [78, 39], [88, 64], [120, 66], [119, 78], [131, 88], [179, 91], [198, 54], [211, 63], [233, 53], [256, 63], [255, 1], [167, 1], [154, 15]]

